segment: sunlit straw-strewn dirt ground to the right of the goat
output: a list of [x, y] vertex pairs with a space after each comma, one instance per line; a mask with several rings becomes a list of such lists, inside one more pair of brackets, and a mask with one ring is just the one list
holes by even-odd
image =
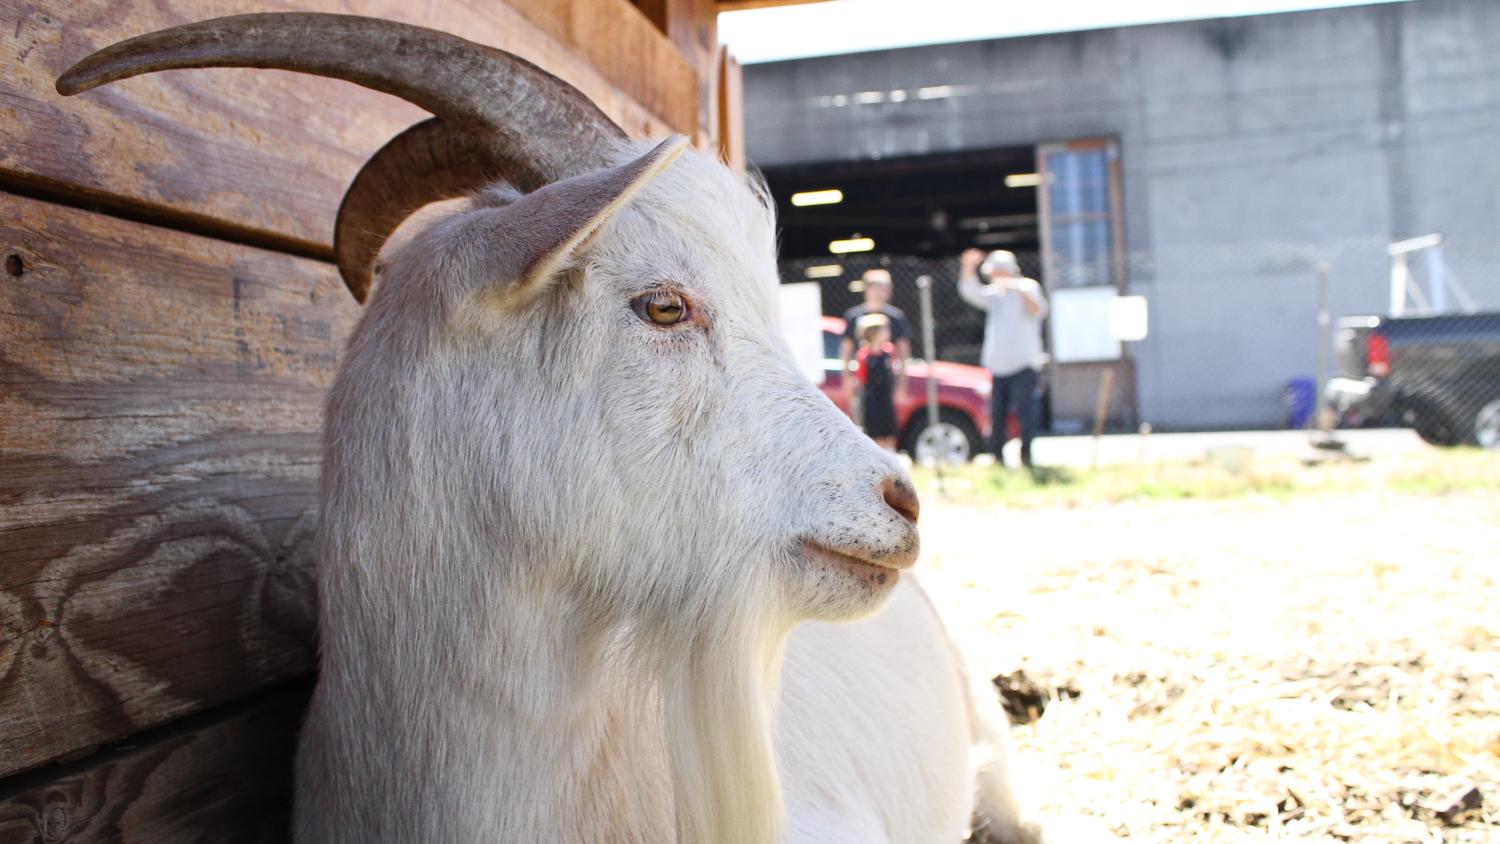
[[1500, 843], [1500, 474], [1485, 486], [924, 490], [922, 582], [970, 666], [1040, 715], [1012, 735], [1047, 814], [1144, 841]]

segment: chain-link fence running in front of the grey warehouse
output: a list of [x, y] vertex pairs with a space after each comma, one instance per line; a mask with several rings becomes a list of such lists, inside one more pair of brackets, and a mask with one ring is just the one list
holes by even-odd
[[[1041, 433], [1406, 426], [1434, 444], [1500, 447], [1500, 265], [1488, 252], [1413, 243], [1395, 255], [1374, 238], [1156, 249], [1124, 259], [1124, 289], [1047, 283], [1041, 255], [1016, 252], [1050, 304]], [[988, 450], [988, 414], [974, 411], [990, 402], [975, 387], [987, 381], [976, 369], [986, 315], [958, 295], [957, 255], [780, 267], [788, 283], [819, 285], [826, 316], [864, 300], [861, 276], [872, 268], [892, 277], [891, 304], [910, 322], [914, 355], [928, 357], [930, 322], [932, 357], [958, 364], [930, 370], [944, 421], [962, 421], [970, 454]], [[1112, 300], [1122, 295], [1144, 300], [1140, 340], [1112, 336]], [[837, 337], [826, 325], [825, 334], [836, 372]], [[914, 381], [912, 400], [926, 400], [924, 378]], [[904, 418], [902, 447], [928, 423], [922, 412]]]

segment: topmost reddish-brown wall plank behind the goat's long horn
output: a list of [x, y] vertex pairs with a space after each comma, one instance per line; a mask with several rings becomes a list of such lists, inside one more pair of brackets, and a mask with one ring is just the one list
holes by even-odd
[[[354, 172], [424, 117], [422, 109], [279, 70], [174, 70], [76, 97], [52, 88], [74, 61], [117, 40], [218, 15], [291, 9], [384, 16], [510, 49], [579, 87], [633, 135], [696, 126], [692, 114], [681, 126], [663, 121], [576, 48], [498, 0], [0, 0], [0, 187], [126, 202], [195, 231], [332, 255], [334, 211]], [[672, 52], [608, 67], [622, 79], [650, 79], [663, 97], [681, 87], [696, 102], [696, 79], [682, 78]]]

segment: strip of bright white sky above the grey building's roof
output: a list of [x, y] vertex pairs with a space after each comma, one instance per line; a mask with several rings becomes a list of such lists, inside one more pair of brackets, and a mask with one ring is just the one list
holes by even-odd
[[831, 0], [718, 15], [741, 63], [1408, 0]]

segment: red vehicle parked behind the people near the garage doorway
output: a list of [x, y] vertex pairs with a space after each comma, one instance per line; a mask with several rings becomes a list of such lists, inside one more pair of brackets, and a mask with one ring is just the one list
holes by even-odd
[[[843, 378], [838, 370], [838, 340], [843, 339], [844, 321], [824, 316], [824, 394], [832, 399], [838, 409], [849, 412], [844, 400]], [[914, 460], [942, 457], [948, 462], [964, 462], [986, 450], [990, 436], [990, 373], [978, 366], [948, 361], [914, 360], [908, 370], [906, 394], [896, 397], [896, 424], [900, 430], [900, 448]], [[927, 379], [938, 382], [939, 429], [926, 439]], [[918, 441], [922, 441], [918, 454]]]

